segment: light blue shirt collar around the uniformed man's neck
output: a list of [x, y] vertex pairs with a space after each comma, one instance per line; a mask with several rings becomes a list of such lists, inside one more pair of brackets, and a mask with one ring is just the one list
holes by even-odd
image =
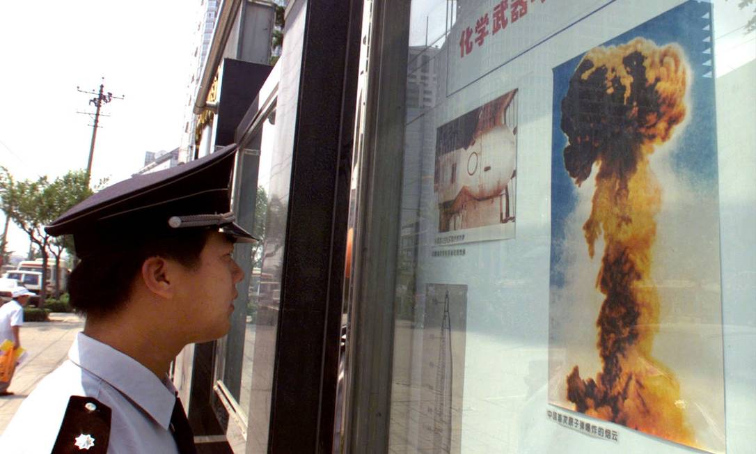
[[84, 333], [76, 335], [68, 358], [119, 390], [168, 429], [176, 390], [167, 378], [161, 381], [136, 359]]

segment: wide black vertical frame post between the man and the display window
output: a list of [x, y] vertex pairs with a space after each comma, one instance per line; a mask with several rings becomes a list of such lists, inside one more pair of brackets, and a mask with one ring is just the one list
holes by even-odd
[[332, 450], [361, 19], [307, 2], [268, 452]]

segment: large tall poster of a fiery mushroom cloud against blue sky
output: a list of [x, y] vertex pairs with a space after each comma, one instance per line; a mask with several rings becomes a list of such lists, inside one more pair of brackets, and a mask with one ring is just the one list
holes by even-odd
[[724, 452], [711, 4], [553, 69], [549, 400]]

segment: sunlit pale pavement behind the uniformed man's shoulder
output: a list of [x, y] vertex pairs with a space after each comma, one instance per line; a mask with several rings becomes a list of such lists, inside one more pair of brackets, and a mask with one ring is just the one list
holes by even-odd
[[76, 333], [84, 327], [84, 321], [76, 314], [51, 313], [50, 320], [26, 322], [21, 327], [21, 346], [26, 350], [26, 358], [8, 388], [15, 394], [0, 397], [0, 434], [39, 381], [67, 359]]

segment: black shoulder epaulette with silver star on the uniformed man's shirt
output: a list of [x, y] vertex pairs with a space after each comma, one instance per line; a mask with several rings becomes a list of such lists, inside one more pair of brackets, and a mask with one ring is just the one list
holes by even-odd
[[71, 396], [51, 454], [107, 452], [110, 407], [92, 397]]

